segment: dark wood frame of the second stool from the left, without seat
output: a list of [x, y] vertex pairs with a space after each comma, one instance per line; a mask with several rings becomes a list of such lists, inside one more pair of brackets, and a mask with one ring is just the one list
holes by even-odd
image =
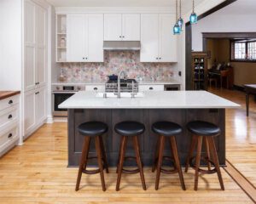
[[[132, 138], [132, 140], [133, 140], [133, 148], [135, 150], [136, 156], [125, 156], [125, 149], [126, 149], [126, 144], [127, 144], [128, 138]], [[124, 169], [123, 168], [124, 161], [131, 160], [131, 159], [136, 159], [138, 168], [135, 170]], [[119, 150], [117, 173], [118, 173], [118, 178], [117, 178], [116, 189], [115, 189], [116, 191], [119, 191], [122, 173], [129, 173], [129, 174], [140, 173], [140, 177], [141, 177], [142, 184], [143, 184], [143, 190], [146, 190], [146, 183], [145, 183], [145, 178], [144, 178], [144, 173], [143, 173], [143, 162], [142, 162], [141, 156], [140, 156], [140, 146], [139, 146], [137, 135], [136, 136], [122, 136], [122, 140], [120, 143], [120, 150]]]

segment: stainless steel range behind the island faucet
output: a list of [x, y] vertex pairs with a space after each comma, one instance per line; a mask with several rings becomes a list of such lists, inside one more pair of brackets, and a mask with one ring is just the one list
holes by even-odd
[[[138, 92], [138, 82], [135, 79], [121, 79], [120, 80], [121, 92]], [[118, 80], [112, 79], [105, 83], [105, 92], [118, 92]]]

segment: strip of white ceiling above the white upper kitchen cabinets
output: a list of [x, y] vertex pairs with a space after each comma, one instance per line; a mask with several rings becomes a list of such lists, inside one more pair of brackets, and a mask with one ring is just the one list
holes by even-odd
[[[195, 5], [204, 0], [195, 0]], [[47, 0], [55, 7], [174, 7], [176, 0]], [[192, 8], [192, 0], [182, 0], [183, 13]]]

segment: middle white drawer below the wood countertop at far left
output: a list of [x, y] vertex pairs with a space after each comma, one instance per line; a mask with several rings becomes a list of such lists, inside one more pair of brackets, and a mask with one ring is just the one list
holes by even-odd
[[18, 105], [0, 111], [0, 129], [7, 126], [10, 122], [16, 121], [18, 117]]

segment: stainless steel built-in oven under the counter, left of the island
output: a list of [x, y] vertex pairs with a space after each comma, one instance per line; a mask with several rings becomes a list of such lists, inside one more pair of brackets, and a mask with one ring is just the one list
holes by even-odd
[[76, 94], [78, 91], [85, 90], [85, 86], [74, 85], [53, 85], [52, 86], [52, 107], [53, 107], [53, 116], [67, 116], [67, 109], [60, 109], [58, 105], [67, 100], [73, 94]]

